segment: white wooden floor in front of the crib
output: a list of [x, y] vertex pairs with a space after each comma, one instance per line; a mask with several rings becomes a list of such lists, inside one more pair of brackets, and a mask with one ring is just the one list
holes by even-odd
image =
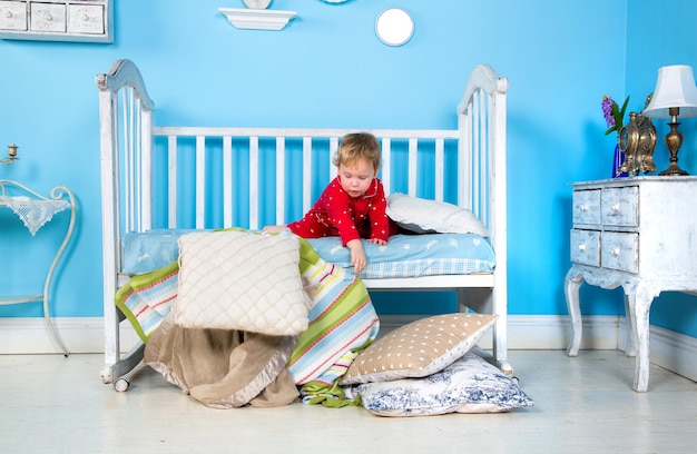
[[694, 453], [697, 384], [616, 351], [512, 351], [536, 406], [507, 414], [384, 418], [293, 404], [210, 409], [149, 368], [127, 393], [101, 355], [0, 356], [0, 453]]

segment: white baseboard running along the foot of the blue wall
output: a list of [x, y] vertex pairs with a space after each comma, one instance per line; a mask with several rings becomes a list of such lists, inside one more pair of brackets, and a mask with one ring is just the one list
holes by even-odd
[[[386, 333], [421, 316], [383, 315], [381, 333]], [[101, 317], [55, 318], [53, 325], [70, 353], [102, 353], [105, 345]], [[566, 349], [571, 324], [565, 315], [509, 315], [509, 349]], [[651, 363], [689, 379], [697, 381], [697, 338], [651, 325]], [[128, 324], [120, 329], [121, 347], [130, 349], [137, 336]], [[479, 345], [491, 348], [491, 334]], [[627, 347], [624, 316], [585, 316], [582, 349], [621, 349]], [[60, 351], [42, 318], [0, 318], [0, 354], [57, 354]]]

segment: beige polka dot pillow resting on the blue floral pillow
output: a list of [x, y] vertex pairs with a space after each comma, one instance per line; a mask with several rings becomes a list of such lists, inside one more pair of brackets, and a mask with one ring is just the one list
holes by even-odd
[[487, 314], [443, 314], [401, 326], [361, 352], [340, 385], [436, 373], [474, 347], [497, 318]]

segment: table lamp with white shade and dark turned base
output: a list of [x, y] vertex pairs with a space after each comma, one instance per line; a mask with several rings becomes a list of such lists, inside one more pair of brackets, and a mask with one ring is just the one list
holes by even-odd
[[673, 65], [659, 68], [654, 96], [642, 115], [649, 118], [670, 118], [670, 132], [666, 135], [670, 166], [659, 175], [688, 175], [678, 167], [678, 151], [683, 145], [683, 135], [678, 132], [678, 116], [697, 116], [697, 87], [693, 67]]

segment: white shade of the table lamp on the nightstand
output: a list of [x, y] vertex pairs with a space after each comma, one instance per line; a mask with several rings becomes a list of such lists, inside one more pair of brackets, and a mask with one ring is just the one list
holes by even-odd
[[670, 118], [668, 109], [680, 108], [680, 117], [697, 116], [697, 86], [693, 67], [674, 65], [658, 69], [658, 81], [651, 102], [644, 109], [644, 116]]

